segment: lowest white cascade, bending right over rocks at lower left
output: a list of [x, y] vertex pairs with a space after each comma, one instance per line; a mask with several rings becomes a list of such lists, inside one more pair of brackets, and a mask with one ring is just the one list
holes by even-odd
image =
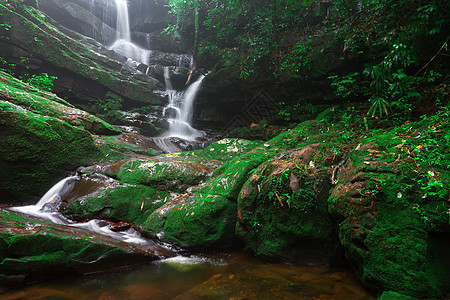
[[75, 223], [58, 212], [64, 195], [67, 195], [80, 180], [81, 176], [70, 176], [55, 184], [35, 205], [10, 207], [9, 210], [21, 212], [30, 216], [49, 220], [56, 224], [84, 228], [102, 235], [106, 235], [127, 243], [145, 245], [149, 241], [143, 239], [139, 232], [128, 229], [114, 232], [108, 222], [101, 220], [90, 220], [86, 223]]

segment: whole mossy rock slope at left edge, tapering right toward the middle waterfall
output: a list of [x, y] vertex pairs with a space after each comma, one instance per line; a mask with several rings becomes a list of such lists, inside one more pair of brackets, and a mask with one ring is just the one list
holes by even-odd
[[111, 136], [120, 131], [4, 72], [0, 72], [0, 116], [2, 204], [42, 196], [83, 164], [159, 153], [142, 136]]

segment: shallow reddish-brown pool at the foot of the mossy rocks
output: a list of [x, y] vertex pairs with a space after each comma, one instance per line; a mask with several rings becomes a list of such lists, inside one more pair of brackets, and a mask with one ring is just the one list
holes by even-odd
[[263, 263], [242, 253], [170, 258], [111, 273], [54, 280], [9, 291], [3, 297], [375, 299], [349, 270]]

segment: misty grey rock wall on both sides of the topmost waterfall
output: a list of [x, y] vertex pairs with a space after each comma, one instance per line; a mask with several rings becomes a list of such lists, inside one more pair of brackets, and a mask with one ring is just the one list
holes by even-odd
[[[66, 28], [91, 37], [105, 46], [116, 39], [114, 1], [42, 0], [39, 9]], [[171, 23], [163, 1], [128, 1], [132, 40], [146, 49], [179, 52], [180, 43], [161, 31]]]

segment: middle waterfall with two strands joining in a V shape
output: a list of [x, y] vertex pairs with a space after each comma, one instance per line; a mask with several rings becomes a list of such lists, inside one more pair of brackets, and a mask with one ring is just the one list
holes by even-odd
[[[167, 75], [167, 79], [166, 79]], [[170, 73], [164, 69], [164, 78], [166, 88], [172, 87], [170, 82]], [[193, 141], [205, 133], [192, 127], [192, 115], [194, 100], [200, 90], [204, 75], [201, 75], [188, 89], [183, 93], [167, 89], [169, 104], [163, 110], [163, 116], [169, 122], [169, 130], [163, 136], [178, 137], [184, 140]]]

